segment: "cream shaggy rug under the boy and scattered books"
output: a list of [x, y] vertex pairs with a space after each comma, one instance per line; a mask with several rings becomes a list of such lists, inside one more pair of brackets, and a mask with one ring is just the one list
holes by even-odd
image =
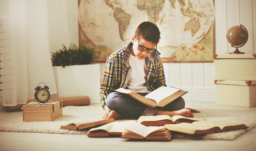
[[[189, 135], [173, 133], [173, 138], [204, 139], [204, 140], [234, 140], [239, 135], [256, 127], [256, 110], [217, 110], [200, 109], [195, 117], [204, 117], [206, 120], [220, 120], [234, 123], [244, 123], [249, 128], [237, 131], [227, 131], [207, 135]], [[0, 113], [1, 114], [1, 113]], [[57, 134], [86, 134], [87, 130], [74, 131], [60, 129], [61, 125], [71, 123], [73, 120], [102, 120], [101, 106], [66, 106], [63, 116], [52, 122], [23, 122], [23, 117], [17, 117], [0, 122], [0, 131], [30, 132], [30, 133], [57, 133]], [[118, 122], [136, 122], [136, 120], [117, 120]]]

